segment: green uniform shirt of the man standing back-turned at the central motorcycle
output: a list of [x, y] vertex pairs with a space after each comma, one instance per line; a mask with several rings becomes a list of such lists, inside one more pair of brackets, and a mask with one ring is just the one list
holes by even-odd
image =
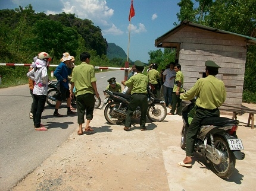
[[149, 79], [146, 75], [138, 73], [133, 75], [125, 82], [125, 85], [132, 88], [131, 94], [146, 94], [146, 87], [148, 85]]

